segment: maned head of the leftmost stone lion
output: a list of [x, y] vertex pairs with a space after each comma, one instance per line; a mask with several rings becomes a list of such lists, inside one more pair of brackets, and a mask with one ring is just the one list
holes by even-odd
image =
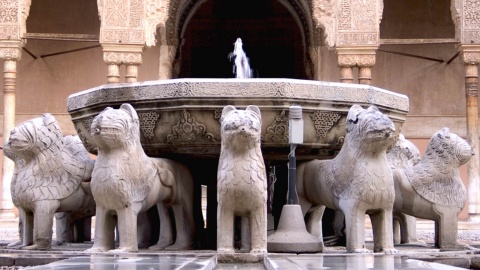
[[62, 147], [62, 138], [57, 120], [46, 113], [16, 126], [4, 146], [4, 154], [12, 160], [29, 159], [42, 152], [55, 154]]

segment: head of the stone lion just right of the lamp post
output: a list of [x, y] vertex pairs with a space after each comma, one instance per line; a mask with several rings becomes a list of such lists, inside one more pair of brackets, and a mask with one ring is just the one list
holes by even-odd
[[395, 126], [375, 106], [365, 110], [359, 105], [353, 105], [348, 111], [346, 125], [345, 140], [352, 141], [358, 147], [386, 150], [393, 143]]

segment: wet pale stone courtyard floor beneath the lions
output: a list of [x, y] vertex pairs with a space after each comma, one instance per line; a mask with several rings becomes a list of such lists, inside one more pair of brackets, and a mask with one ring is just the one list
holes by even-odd
[[[422, 223], [423, 222], [423, 223]], [[0, 269], [480, 269], [480, 226], [459, 224], [459, 239], [476, 250], [440, 252], [433, 246], [433, 224], [417, 222], [417, 237], [427, 246], [396, 245], [396, 255], [349, 254], [344, 247], [326, 247], [322, 253], [218, 254], [214, 250], [87, 254], [92, 243], [54, 246], [51, 251], [6, 249], [18, 239], [15, 221], [0, 222]], [[3, 224], [3, 225], [2, 225]], [[367, 226], [368, 228], [368, 226]], [[372, 249], [371, 231], [366, 230], [367, 248]]]

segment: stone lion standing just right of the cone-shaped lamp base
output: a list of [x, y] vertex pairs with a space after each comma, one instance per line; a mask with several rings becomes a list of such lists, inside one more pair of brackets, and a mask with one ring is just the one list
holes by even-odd
[[396, 253], [392, 210], [395, 197], [387, 149], [395, 126], [375, 106], [353, 105], [347, 115], [345, 142], [332, 160], [312, 160], [297, 168], [299, 204], [307, 217], [307, 230], [323, 243], [325, 207], [345, 214], [348, 252], [365, 248], [365, 214], [373, 226], [374, 251]]

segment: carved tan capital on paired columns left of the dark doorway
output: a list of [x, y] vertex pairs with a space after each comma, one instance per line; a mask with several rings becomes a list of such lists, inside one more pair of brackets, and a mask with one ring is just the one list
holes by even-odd
[[115, 65], [141, 65], [143, 45], [102, 44], [103, 61]]

